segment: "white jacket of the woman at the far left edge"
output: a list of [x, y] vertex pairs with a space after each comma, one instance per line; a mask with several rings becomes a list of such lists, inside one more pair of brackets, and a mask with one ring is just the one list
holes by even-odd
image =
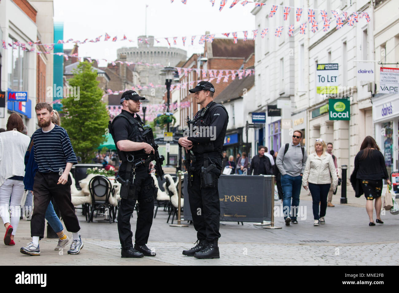
[[12, 176], [25, 175], [24, 157], [29, 136], [16, 130], [0, 133], [0, 185]]

